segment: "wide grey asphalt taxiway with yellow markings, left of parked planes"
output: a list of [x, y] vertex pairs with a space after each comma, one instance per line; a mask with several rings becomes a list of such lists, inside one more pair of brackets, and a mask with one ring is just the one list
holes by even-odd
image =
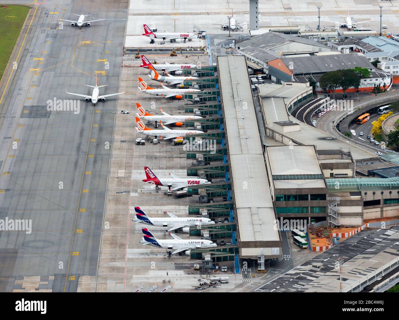
[[[96, 76], [109, 84], [100, 94], [118, 92], [128, 1], [36, 2], [12, 59], [18, 69], [1, 88], [0, 218], [32, 220], [30, 234], [0, 232], [2, 292], [76, 291], [81, 275], [97, 275], [103, 229], [117, 99], [82, 100], [79, 113], [46, 107], [73, 99], [65, 89], [91, 94], [84, 85]], [[109, 20], [55, 29], [56, 16], [76, 19], [82, 5], [90, 18]]]

